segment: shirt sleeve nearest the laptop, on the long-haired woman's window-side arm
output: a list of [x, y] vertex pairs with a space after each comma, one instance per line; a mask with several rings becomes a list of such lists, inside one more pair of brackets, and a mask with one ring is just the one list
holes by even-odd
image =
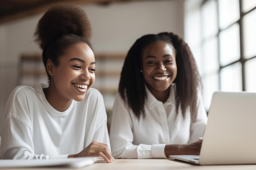
[[197, 141], [199, 137], [203, 137], [207, 120], [202, 97], [198, 95], [198, 113], [195, 120], [191, 119], [189, 144]]

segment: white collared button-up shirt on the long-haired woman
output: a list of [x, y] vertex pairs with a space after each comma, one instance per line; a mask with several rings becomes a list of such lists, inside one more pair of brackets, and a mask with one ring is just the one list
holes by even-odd
[[166, 144], [189, 144], [202, 137], [207, 114], [198, 95], [198, 113], [195, 121], [187, 109], [185, 118], [175, 106], [175, 84], [163, 104], [146, 88], [145, 117], [137, 118], [118, 94], [113, 108], [110, 144], [115, 158], [166, 158]]

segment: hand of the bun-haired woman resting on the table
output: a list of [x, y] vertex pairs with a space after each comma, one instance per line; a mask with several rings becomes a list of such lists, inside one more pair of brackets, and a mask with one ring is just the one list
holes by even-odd
[[74, 157], [102, 157], [107, 163], [112, 163], [112, 161], [114, 161], [114, 158], [108, 149], [108, 145], [97, 141], [93, 141], [78, 154], [68, 155], [68, 158]]

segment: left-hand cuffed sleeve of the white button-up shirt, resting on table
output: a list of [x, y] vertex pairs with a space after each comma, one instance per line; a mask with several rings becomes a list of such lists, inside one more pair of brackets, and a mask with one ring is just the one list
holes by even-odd
[[113, 157], [127, 159], [166, 158], [164, 155], [165, 144], [132, 144], [132, 130], [132, 117], [128, 106], [121, 97], [117, 95], [110, 127], [110, 144]]

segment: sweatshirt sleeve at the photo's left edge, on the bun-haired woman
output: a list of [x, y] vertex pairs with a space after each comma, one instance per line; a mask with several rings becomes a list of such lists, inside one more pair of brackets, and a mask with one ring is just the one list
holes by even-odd
[[[32, 140], [33, 124], [30, 120], [28, 98], [22, 88], [15, 88], [5, 108], [3, 124], [0, 130], [1, 159], [59, 159], [67, 158], [67, 155], [36, 155]], [[32, 97], [32, 96], [31, 96]]]

